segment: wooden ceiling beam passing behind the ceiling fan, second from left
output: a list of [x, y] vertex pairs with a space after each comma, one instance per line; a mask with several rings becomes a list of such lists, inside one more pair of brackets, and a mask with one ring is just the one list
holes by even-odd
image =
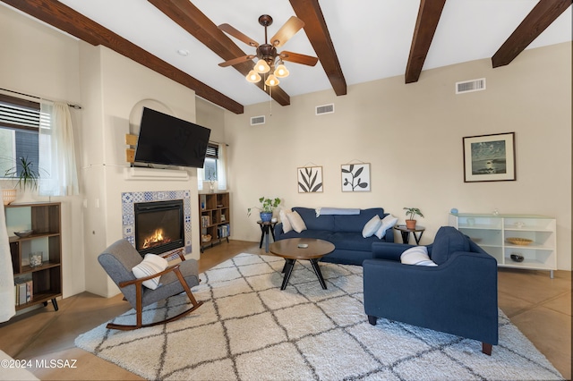
[[[189, 0], [148, 0], [159, 11], [165, 13], [167, 17], [175, 21], [181, 28], [189, 32], [194, 38], [197, 38], [203, 45], [209, 47], [215, 54], [224, 61], [231, 60], [235, 57], [246, 55], [244, 51], [237, 47], [235, 42], [229, 38], [222, 30], [219, 30], [213, 21], [202, 13], [199, 8]], [[233, 67], [246, 76], [251, 70], [254, 63], [252, 60], [233, 65]], [[217, 70], [218, 67], [213, 68]], [[228, 69], [227, 69], [228, 70]], [[285, 90], [276, 86], [270, 91], [269, 86], [265, 86], [261, 80], [255, 83], [255, 86], [270, 95], [279, 105], [290, 105], [290, 97]]]

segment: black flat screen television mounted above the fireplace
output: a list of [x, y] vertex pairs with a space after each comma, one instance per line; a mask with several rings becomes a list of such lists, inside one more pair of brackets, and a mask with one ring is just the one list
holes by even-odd
[[202, 168], [210, 129], [143, 107], [136, 165], [158, 164]]

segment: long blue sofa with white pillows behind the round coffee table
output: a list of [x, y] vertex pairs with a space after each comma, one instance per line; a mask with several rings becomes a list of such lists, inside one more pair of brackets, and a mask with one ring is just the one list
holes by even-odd
[[358, 215], [321, 215], [318, 217], [316, 209], [310, 207], [293, 207], [292, 210], [303, 218], [306, 230], [301, 233], [295, 231], [284, 233], [282, 223], [276, 224], [275, 240], [317, 238], [332, 242], [336, 249], [321, 259], [325, 262], [361, 266], [364, 259], [372, 258], [372, 242], [394, 241], [392, 228], [386, 231], [382, 239], [375, 235], [368, 238], [362, 236], [364, 224], [373, 216], [378, 215], [380, 218], [388, 216], [388, 213], [384, 213], [381, 207], [360, 209]]

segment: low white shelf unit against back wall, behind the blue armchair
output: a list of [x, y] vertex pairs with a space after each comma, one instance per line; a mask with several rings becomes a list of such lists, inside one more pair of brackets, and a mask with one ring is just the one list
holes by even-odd
[[[449, 215], [449, 225], [466, 234], [498, 261], [499, 267], [532, 270], [557, 269], [557, 223], [555, 218], [538, 215], [492, 215], [458, 213]], [[528, 245], [517, 245], [508, 238], [531, 240]], [[511, 259], [517, 254], [524, 259]]]

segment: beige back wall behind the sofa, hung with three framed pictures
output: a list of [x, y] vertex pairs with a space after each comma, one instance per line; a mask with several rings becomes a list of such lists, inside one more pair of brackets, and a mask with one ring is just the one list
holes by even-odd
[[[460, 80], [486, 78], [487, 89], [455, 94]], [[296, 80], [288, 78], [286, 80]], [[248, 84], [245, 83], [245, 86]], [[314, 107], [335, 104], [335, 114]], [[508, 66], [491, 60], [291, 97], [227, 113], [233, 238], [258, 241], [258, 216], [247, 207], [261, 196], [284, 207], [384, 207], [403, 222], [403, 207], [420, 207], [423, 243], [461, 212], [527, 213], [558, 222], [558, 267], [571, 268], [571, 46], [526, 50]], [[251, 126], [250, 118], [267, 123]], [[516, 133], [517, 181], [464, 182], [462, 138]], [[342, 192], [340, 165], [371, 163], [372, 191]], [[296, 168], [321, 165], [324, 191], [298, 193]], [[396, 237], [399, 241], [398, 236]]]

